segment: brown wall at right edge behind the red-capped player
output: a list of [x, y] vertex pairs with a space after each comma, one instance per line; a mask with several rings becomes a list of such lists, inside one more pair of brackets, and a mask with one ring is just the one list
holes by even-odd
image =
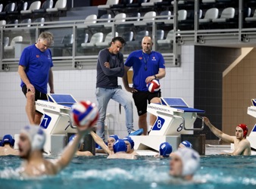
[[248, 134], [256, 119], [247, 114], [251, 99], [256, 98], [256, 49], [223, 77], [223, 132], [235, 135], [236, 125], [248, 125]]

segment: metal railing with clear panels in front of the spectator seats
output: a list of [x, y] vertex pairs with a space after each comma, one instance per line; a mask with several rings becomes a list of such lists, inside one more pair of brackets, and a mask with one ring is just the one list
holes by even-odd
[[[188, 0], [189, 2], [189, 0]], [[237, 2], [236, 12], [237, 20], [235, 26], [225, 23], [216, 28], [207, 28], [199, 23], [199, 10], [202, 5], [199, 0], [194, 2], [192, 7], [193, 18], [190, 20], [178, 20], [178, 10], [186, 8], [186, 5], [178, 5], [174, 1], [173, 15], [157, 16], [155, 20], [144, 20], [145, 17], [140, 17], [140, 23], [144, 26], [135, 26], [138, 17], [112, 18], [110, 23], [108, 19], [98, 19], [96, 23], [85, 23], [85, 20], [68, 20], [42, 23], [19, 23], [0, 26], [0, 62], [2, 71], [17, 70], [17, 64], [20, 54], [25, 46], [33, 44], [38, 39], [39, 33], [42, 31], [50, 31], [55, 36], [55, 44], [51, 47], [55, 69], [57, 70], [72, 70], [72, 69], [90, 69], [95, 68], [95, 63], [98, 57], [98, 51], [101, 50], [97, 45], [92, 48], [83, 48], [81, 46], [83, 35], [89, 34], [89, 39], [94, 33], [118, 33], [118, 36], [123, 36], [126, 32], [133, 32], [135, 39], [136, 33], [141, 30], [148, 30], [149, 36], [152, 36], [154, 42], [153, 50], [160, 51], [164, 55], [167, 67], [180, 67], [181, 45], [220, 45], [233, 47], [251, 47], [256, 44], [256, 22], [252, 24], [245, 23], [244, 9], [246, 4], [243, 0]], [[232, 1], [230, 1], [232, 2]], [[180, 7], [181, 6], [181, 7]], [[185, 6], [185, 7], [184, 7]], [[190, 7], [191, 8], [191, 7]], [[205, 12], [206, 10], [204, 10]], [[166, 18], [170, 17], [170, 20]], [[121, 20], [125, 19], [125, 22]], [[255, 27], [254, 27], [255, 25]], [[212, 26], [209, 23], [209, 26]], [[165, 37], [168, 31], [173, 29], [171, 41], [161, 45], [158, 43], [157, 31], [164, 29]], [[70, 42], [64, 42], [64, 36], [73, 34]], [[9, 37], [10, 41], [14, 36], [23, 36], [23, 42], [15, 44], [14, 51], [5, 51], [4, 39]], [[141, 39], [138, 39], [141, 40]], [[104, 48], [108, 48], [105, 46]], [[140, 43], [137, 45], [125, 45], [122, 49], [124, 59], [130, 54], [141, 48]]]

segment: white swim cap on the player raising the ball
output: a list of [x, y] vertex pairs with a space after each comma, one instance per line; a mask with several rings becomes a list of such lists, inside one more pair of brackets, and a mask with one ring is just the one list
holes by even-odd
[[42, 150], [45, 144], [46, 135], [41, 127], [39, 127], [38, 125], [26, 125], [20, 131], [20, 133], [27, 135], [27, 137], [30, 139], [32, 150]]

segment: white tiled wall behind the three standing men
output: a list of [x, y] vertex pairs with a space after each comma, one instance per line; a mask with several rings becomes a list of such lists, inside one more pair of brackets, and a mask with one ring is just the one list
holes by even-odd
[[[183, 98], [190, 107], [194, 105], [194, 46], [184, 46], [182, 49], [181, 67], [169, 67], [166, 76], [161, 79], [163, 97]], [[72, 94], [77, 101], [89, 100], [97, 103], [95, 98], [96, 70], [54, 71], [56, 94]], [[123, 85], [122, 79], [119, 83]], [[20, 77], [17, 72], [0, 73], [0, 138], [6, 134], [17, 134], [28, 124], [25, 113], [26, 99], [20, 88]], [[132, 95], [130, 94], [132, 98]], [[138, 128], [136, 107], [134, 112], [134, 128]], [[110, 134], [120, 137], [127, 135], [125, 113], [119, 104], [110, 101], [108, 104], [110, 119], [107, 119]]]

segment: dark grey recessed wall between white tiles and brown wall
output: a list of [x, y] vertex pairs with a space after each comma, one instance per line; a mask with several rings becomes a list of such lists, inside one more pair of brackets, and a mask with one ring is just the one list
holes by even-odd
[[[195, 47], [195, 108], [205, 110], [201, 116], [208, 116], [218, 129], [222, 127], [223, 71], [241, 54], [240, 48]], [[205, 126], [208, 140], [217, 137]]]

